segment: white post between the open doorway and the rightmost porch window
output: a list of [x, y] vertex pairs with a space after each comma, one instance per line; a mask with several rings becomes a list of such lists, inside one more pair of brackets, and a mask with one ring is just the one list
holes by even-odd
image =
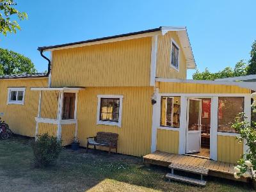
[[212, 97], [211, 102], [211, 129], [210, 129], [210, 158], [217, 161], [218, 148], [218, 97]]

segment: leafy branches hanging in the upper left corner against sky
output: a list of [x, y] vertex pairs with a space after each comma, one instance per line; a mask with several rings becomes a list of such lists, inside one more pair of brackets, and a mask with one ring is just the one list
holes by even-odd
[[0, 33], [4, 36], [7, 33], [16, 33], [20, 26], [17, 20], [13, 20], [13, 16], [17, 16], [19, 20], [28, 19], [25, 12], [19, 12], [12, 7], [15, 4], [13, 0], [0, 0]]

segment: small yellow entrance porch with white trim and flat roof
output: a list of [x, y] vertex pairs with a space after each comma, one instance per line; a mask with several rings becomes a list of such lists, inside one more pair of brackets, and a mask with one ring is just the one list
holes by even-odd
[[32, 87], [39, 92], [35, 137], [48, 133], [69, 145], [77, 138], [77, 99], [81, 87]]

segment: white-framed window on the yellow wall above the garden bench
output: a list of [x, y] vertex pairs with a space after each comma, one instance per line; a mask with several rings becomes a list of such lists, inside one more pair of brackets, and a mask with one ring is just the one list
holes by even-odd
[[121, 127], [123, 95], [97, 95], [97, 124]]

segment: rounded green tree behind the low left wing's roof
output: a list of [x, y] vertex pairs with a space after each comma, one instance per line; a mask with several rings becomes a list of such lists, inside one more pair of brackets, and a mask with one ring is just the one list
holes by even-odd
[[35, 65], [32, 61], [14, 51], [0, 48], [0, 74], [32, 74], [36, 72]]

